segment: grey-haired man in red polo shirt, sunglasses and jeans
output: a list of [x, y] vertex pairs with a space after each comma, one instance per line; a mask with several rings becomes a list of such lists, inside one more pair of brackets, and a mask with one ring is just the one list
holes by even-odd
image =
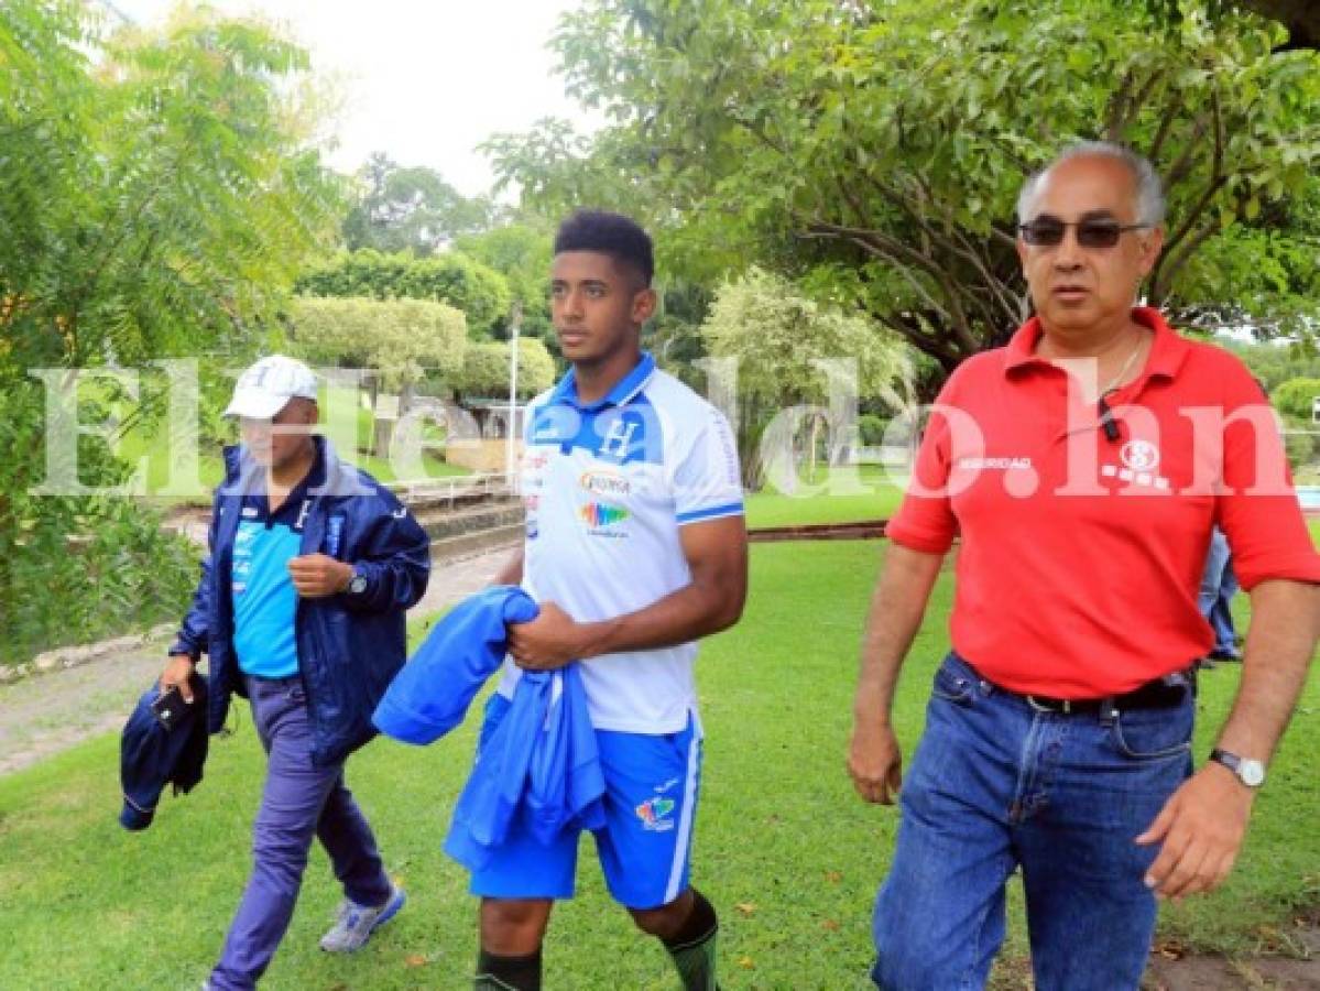
[[[1156, 895], [1232, 868], [1316, 643], [1320, 556], [1263, 395], [1236, 358], [1134, 307], [1163, 244], [1151, 165], [1069, 149], [1027, 182], [1019, 222], [1038, 315], [941, 392], [862, 649], [849, 771], [871, 802], [902, 783], [874, 920], [883, 988], [983, 986], [1019, 867], [1036, 987], [1138, 987]], [[1192, 773], [1216, 524], [1254, 622]], [[894, 685], [954, 536], [953, 652], [903, 781]]]

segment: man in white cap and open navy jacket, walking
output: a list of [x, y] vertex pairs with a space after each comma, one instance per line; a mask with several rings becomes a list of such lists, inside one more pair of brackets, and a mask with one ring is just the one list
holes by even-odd
[[425, 532], [370, 475], [314, 433], [317, 380], [289, 358], [239, 379], [226, 416], [243, 443], [224, 453], [210, 556], [170, 648], [161, 690], [209, 655], [209, 724], [238, 691], [267, 751], [252, 874], [209, 988], [252, 988], [284, 937], [315, 835], [345, 888], [321, 947], [360, 947], [404, 904], [371, 826], [345, 786], [348, 755], [375, 735], [371, 713], [403, 666], [404, 611], [426, 590]]

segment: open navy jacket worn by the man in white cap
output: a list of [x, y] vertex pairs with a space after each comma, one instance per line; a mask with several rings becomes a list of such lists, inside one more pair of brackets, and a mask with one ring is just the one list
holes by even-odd
[[[310, 490], [300, 554], [346, 561], [367, 579], [360, 594], [298, 599], [298, 673], [308, 698], [314, 743], [312, 759], [343, 760], [375, 735], [371, 713], [407, 656], [404, 611], [426, 591], [430, 541], [389, 490], [335, 457], [314, 438], [325, 483]], [[234, 655], [230, 567], [244, 492], [264, 471], [242, 446], [224, 450], [224, 482], [215, 490], [210, 554], [202, 562], [189, 610], [170, 653], [210, 657], [210, 731], [224, 726], [230, 697], [246, 695]]]

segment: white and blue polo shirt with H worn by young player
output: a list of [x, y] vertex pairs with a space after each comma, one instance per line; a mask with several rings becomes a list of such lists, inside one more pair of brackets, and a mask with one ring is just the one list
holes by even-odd
[[[523, 587], [581, 623], [644, 608], [692, 581], [680, 528], [741, 516], [738, 449], [725, 417], [651, 355], [599, 402], [570, 371], [528, 406]], [[597, 730], [682, 732], [696, 711], [694, 643], [582, 665]], [[499, 691], [519, 668], [506, 661]]]

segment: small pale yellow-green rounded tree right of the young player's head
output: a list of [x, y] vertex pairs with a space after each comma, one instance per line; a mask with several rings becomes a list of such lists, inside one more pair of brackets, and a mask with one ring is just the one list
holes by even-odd
[[[779, 276], [751, 269], [715, 296], [701, 325], [706, 350], [714, 359], [738, 360], [738, 434], [744, 478], [756, 487], [763, 466], [756, 451], [770, 421], [791, 406], [840, 399], [882, 399], [895, 410], [907, 408], [911, 363], [896, 335], [869, 319], [808, 300]], [[842, 381], [830, 381], [822, 360], [853, 360], [855, 395]], [[842, 369], [841, 369], [842, 371]], [[830, 410], [851, 417], [855, 409]], [[805, 420], [807, 450], [814, 467], [817, 439], [828, 417]], [[838, 426], [841, 426], [840, 424]], [[792, 424], [788, 424], [792, 428]]]

